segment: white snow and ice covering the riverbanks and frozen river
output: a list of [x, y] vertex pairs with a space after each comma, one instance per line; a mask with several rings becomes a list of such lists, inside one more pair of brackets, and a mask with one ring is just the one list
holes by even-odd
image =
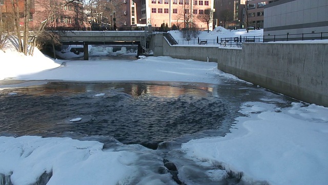
[[[261, 34], [261, 30], [254, 31]], [[242, 34], [248, 33], [244, 30], [214, 30], [202, 32], [201, 36], [234, 37]], [[179, 35], [174, 36], [178, 38]], [[72, 56], [72, 53], [63, 52], [68, 58]], [[118, 52], [127, 53], [125, 49]], [[218, 70], [215, 62], [144, 56], [126, 62], [53, 60], [37, 49], [33, 57], [26, 57], [10, 43], [0, 50], [0, 80], [26, 81], [18, 85], [0, 85], [0, 90], [29, 86], [38, 83], [37, 80], [218, 84], [219, 78], [239, 80]], [[328, 108], [297, 100], [289, 107], [277, 107], [275, 101], [243, 103], [239, 110], [243, 116], [235, 119], [230, 133], [224, 137], [183, 143], [181, 151], [184, 157], [199, 165], [221, 165], [226, 169], [209, 172], [208, 178], [213, 179], [224, 178], [227, 172], [232, 172], [242, 174], [242, 181], [248, 184], [328, 184]], [[48, 184], [133, 184], [136, 176], [147, 172], [148, 176], [138, 184], [176, 184], [169, 173], [154, 173], [147, 164], [140, 168], [143, 167], [140, 158], [153, 156], [154, 151], [140, 145], [121, 145], [126, 150], [103, 150], [104, 144], [98, 141], [2, 136], [0, 174], [12, 174], [13, 184], [33, 183], [44, 172], [50, 171], [53, 174]], [[153, 161], [152, 165], [163, 164]], [[183, 171], [183, 167], [178, 171]], [[179, 178], [192, 184], [182, 175]]]

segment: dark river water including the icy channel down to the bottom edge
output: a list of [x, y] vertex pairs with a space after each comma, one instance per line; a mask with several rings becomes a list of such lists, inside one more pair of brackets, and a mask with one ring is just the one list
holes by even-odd
[[[0, 86], [19, 83], [0, 81]], [[199, 166], [179, 149], [191, 139], [229, 133], [242, 116], [240, 105], [250, 101], [284, 107], [292, 99], [228, 78], [220, 84], [44, 81], [0, 89], [0, 136], [96, 140], [104, 150], [139, 153], [145, 147], [152, 150], [141, 155], [140, 167], [159, 174], [169, 170], [176, 184], [244, 184], [242, 174], [209, 175], [224, 169]], [[147, 173], [135, 182], [146, 178]]]

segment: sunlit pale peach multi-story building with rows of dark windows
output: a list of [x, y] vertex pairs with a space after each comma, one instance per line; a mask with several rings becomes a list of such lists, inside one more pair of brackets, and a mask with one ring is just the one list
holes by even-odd
[[[135, 0], [134, 7], [138, 17], [134, 23], [151, 24], [153, 27], [164, 23], [168, 27], [207, 29], [207, 24], [198, 20], [197, 15], [208, 9], [215, 11], [213, 0]], [[213, 29], [212, 25], [209, 29]]]

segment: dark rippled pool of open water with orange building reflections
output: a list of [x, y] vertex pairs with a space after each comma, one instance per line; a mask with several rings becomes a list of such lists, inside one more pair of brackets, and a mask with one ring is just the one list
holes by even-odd
[[[0, 91], [0, 135], [78, 133], [156, 149], [181, 136], [223, 136], [239, 116], [240, 103], [264, 98], [284, 97], [238, 82], [49, 82]], [[69, 122], [76, 118], [83, 121]]]

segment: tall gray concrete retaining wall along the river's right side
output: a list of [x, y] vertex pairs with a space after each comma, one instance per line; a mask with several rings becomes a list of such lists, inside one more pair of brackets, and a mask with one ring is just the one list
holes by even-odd
[[[155, 56], [217, 62], [218, 69], [277, 93], [328, 107], [328, 44], [244, 43], [242, 49], [170, 46], [156, 34]], [[159, 41], [159, 42], [157, 42]]]

